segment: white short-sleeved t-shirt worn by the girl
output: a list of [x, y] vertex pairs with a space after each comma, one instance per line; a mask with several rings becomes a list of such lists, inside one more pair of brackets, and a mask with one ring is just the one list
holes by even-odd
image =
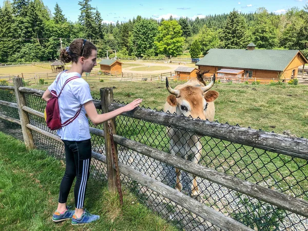
[[[71, 72], [66, 73], [61, 72], [56, 76], [54, 82], [48, 87], [48, 90], [55, 90], [57, 95], [59, 95], [62, 86], [65, 81], [72, 76], [79, 76], [78, 79], [71, 80], [68, 82], [62, 90], [60, 97], [58, 98], [61, 123], [74, 117], [76, 112], [82, 107], [78, 117], [70, 124], [57, 130], [58, 136], [62, 140], [70, 141], [82, 141], [91, 138], [89, 131], [89, 121], [86, 117], [86, 110], [83, 106], [86, 102], [92, 100], [90, 93], [89, 84], [81, 78], [80, 73]], [[59, 81], [56, 83], [57, 79]]]

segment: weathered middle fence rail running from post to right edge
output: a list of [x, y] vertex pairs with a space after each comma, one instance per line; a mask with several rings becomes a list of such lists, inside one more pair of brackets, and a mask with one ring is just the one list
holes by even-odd
[[185, 170], [203, 179], [242, 192], [245, 195], [268, 202], [279, 208], [283, 208], [293, 213], [308, 217], [308, 202], [295, 197], [285, 195], [273, 189], [269, 189], [236, 177], [228, 176], [222, 172], [207, 168], [200, 164], [192, 163], [177, 156], [149, 147], [145, 144], [129, 140], [127, 138], [114, 135], [114, 141], [131, 150], [142, 153], [147, 157], [167, 163], [176, 168]]

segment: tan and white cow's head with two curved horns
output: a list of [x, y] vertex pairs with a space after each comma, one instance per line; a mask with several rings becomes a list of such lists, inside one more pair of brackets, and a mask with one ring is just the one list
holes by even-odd
[[215, 113], [213, 102], [219, 96], [217, 91], [209, 90], [213, 87], [214, 83], [215, 74], [213, 80], [207, 86], [203, 86], [203, 84], [185, 86], [184, 84], [183, 87], [172, 89], [166, 78], [166, 87], [171, 93], [167, 98], [167, 102], [170, 106], [176, 106], [177, 114], [183, 114], [186, 117], [190, 115], [192, 118], [199, 117], [202, 120], [209, 119], [206, 115]]

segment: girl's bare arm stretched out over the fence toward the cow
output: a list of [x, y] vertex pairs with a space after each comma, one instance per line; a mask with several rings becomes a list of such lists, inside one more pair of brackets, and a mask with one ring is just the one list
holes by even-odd
[[98, 125], [98, 124], [104, 123], [107, 120], [110, 120], [110, 119], [116, 117], [117, 115], [119, 115], [123, 112], [130, 111], [130, 110], [138, 107], [141, 102], [142, 102], [142, 99], [137, 99], [137, 100], [132, 101], [130, 104], [127, 104], [124, 107], [118, 108], [117, 110], [110, 111], [110, 112], [104, 113], [104, 114], [99, 114], [97, 112], [95, 105], [94, 105], [92, 100], [85, 103], [84, 107], [86, 109], [86, 112], [87, 112], [88, 117], [90, 118], [91, 122], [94, 125]]

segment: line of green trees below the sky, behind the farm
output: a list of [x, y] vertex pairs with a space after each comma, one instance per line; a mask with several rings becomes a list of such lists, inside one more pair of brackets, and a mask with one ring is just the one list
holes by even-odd
[[[128, 22], [102, 23], [90, 4], [79, 2], [77, 22], [67, 20], [58, 4], [52, 14], [42, 0], [5, 0], [0, 8], [0, 62], [55, 60], [60, 49], [75, 38], [87, 38], [98, 47], [98, 56], [117, 50], [117, 56], [177, 56], [189, 51], [192, 58], [211, 48], [297, 49], [308, 56], [308, 4], [285, 14], [255, 13], [208, 15], [155, 20], [137, 16]], [[114, 54], [113, 54], [114, 55]]]

